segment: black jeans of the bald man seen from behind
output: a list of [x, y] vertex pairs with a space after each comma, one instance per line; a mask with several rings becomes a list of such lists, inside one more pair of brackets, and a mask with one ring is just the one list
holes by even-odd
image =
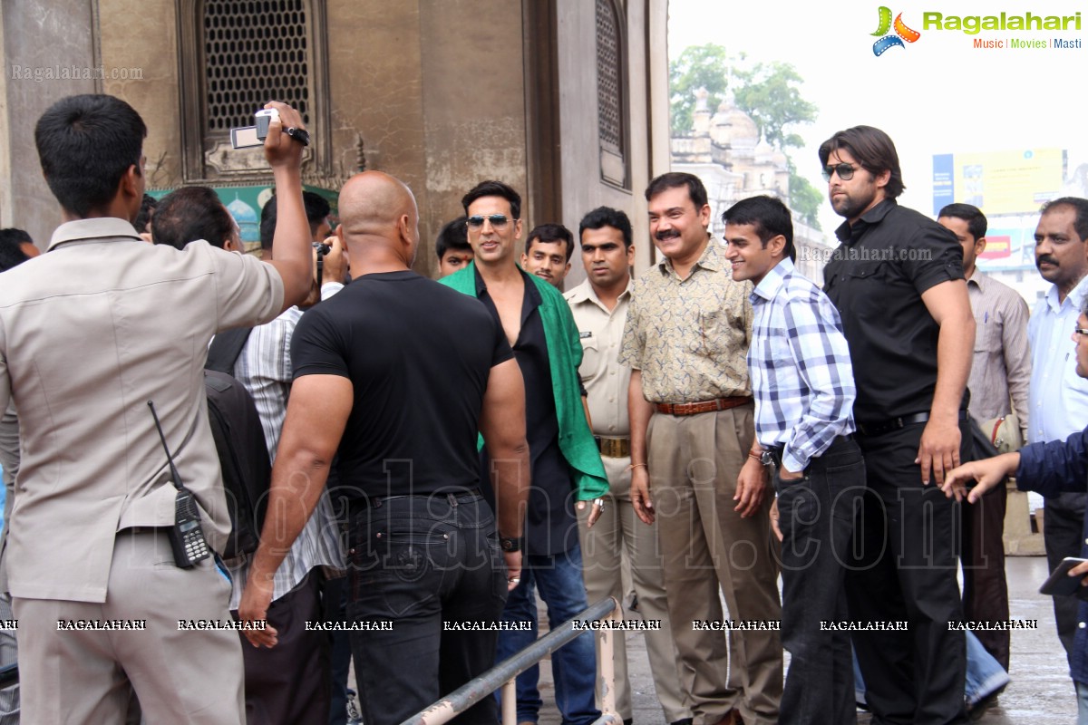
[[[506, 567], [482, 497], [403, 497], [354, 511], [348, 567], [349, 621], [392, 622], [351, 633], [367, 725], [397, 725], [492, 666], [497, 632], [445, 626], [503, 616]], [[497, 721], [486, 697], [453, 722]]]

